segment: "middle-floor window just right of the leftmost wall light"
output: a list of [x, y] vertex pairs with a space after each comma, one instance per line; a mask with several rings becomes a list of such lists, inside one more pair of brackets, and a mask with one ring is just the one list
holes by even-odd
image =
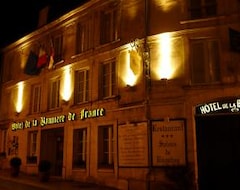
[[32, 85], [31, 113], [39, 113], [41, 105], [41, 85]]

